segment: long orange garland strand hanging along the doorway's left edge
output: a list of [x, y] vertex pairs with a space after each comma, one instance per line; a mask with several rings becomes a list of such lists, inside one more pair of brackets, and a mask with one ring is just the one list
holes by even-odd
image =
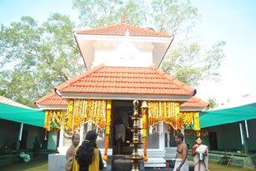
[[109, 135], [111, 129], [111, 100], [107, 100], [107, 113], [106, 113], [106, 129], [105, 129], [105, 139], [104, 139], [104, 155], [103, 160], [108, 160], [108, 145], [109, 145]]

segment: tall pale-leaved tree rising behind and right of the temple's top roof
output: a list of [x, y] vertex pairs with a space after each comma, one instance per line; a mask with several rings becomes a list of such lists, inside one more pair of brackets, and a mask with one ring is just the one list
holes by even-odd
[[122, 13], [128, 23], [152, 26], [159, 32], [175, 36], [161, 68], [188, 85], [199, 85], [205, 79], [218, 81], [225, 42], [204, 49], [193, 38], [193, 27], [200, 15], [185, 0], [73, 0], [82, 27], [102, 27], [120, 22]]

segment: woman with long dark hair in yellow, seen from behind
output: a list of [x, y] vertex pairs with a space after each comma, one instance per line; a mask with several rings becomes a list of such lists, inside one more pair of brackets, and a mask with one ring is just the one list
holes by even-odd
[[85, 140], [78, 147], [73, 161], [73, 171], [98, 171], [103, 169], [103, 159], [97, 148], [98, 134], [94, 130], [86, 133]]

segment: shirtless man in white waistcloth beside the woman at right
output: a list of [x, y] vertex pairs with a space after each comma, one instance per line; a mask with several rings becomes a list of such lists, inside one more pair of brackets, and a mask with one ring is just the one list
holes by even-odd
[[173, 171], [188, 171], [188, 146], [183, 142], [184, 135], [178, 133], [175, 137], [177, 143], [177, 154], [175, 157], [175, 165]]

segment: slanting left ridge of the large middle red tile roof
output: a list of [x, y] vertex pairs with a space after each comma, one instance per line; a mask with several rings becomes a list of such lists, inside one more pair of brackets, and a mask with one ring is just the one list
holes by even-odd
[[[58, 85], [57, 87], [54, 88], [54, 91], [56, 92], [56, 90], [59, 89], [64, 89], [66, 88], [68, 85], [71, 85], [73, 82], [78, 81], [80, 78], [83, 78], [84, 76], [89, 76], [90, 74], [92, 74], [94, 71], [98, 71], [100, 68], [104, 67], [104, 65], [99, 65], [94, 67], [92, 70], [89, 71], [85, 71], [83, 74], [79, 75], [79, 76], [75, 76], [72, 79], [65, 81], [63, 84]], [[58, 94], [58, 93], [57, 93]]]

